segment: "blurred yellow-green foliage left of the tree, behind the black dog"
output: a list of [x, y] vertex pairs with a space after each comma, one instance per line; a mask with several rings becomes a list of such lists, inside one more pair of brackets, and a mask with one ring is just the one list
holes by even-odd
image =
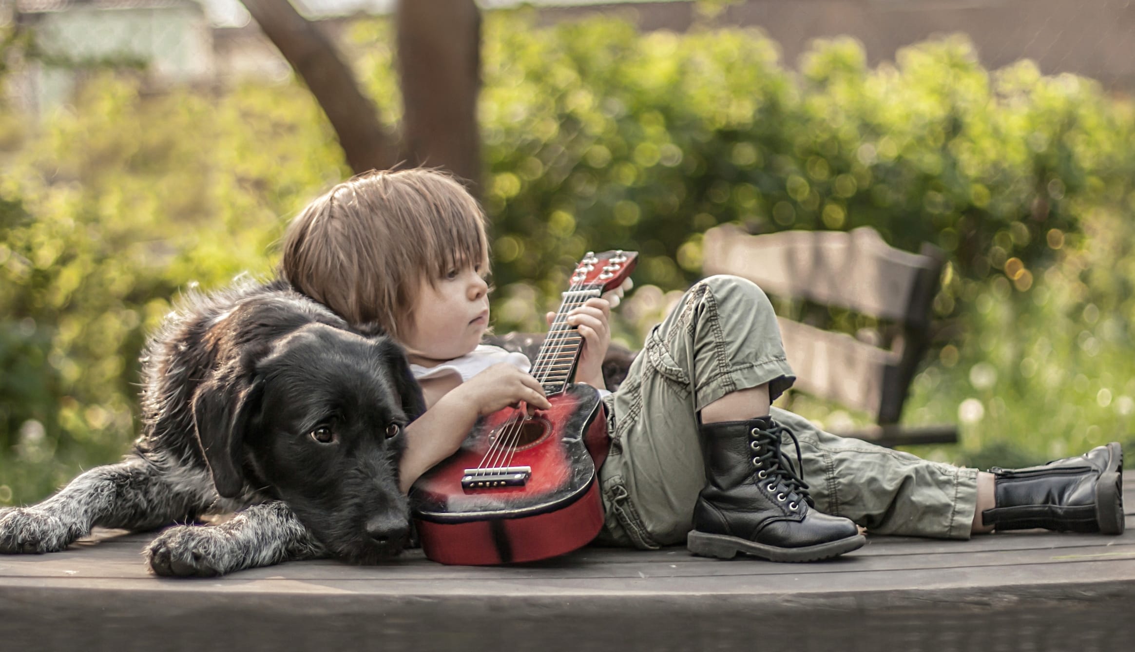
[[270, 273], [281, 218], [347, 174], [299, 86], [137, 85], [102, 75], [34, 135], [0, 139], [0, 502], [125, 452], [144, 336], [177, 292]]

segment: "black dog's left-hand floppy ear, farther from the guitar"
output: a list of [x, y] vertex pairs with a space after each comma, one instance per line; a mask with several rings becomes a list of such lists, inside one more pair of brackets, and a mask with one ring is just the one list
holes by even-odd
[[244, 488], [242, 450], [252, 416], [260, 410], [264, 382], [245, 374], [220, 373], [193, 396], [193, 425], [217, 493], [236, 498]]

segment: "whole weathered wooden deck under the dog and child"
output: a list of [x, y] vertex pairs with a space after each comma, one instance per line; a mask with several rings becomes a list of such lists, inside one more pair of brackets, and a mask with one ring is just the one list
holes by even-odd
[[0, 557], [0, 650], [1135, 650], [1125, 499], [1123, 536], [878, 536], [807, 565], [589, 547], [508, 568], [411, 553], [166, 579], [140, 557], [152, 534], [100, 532]]

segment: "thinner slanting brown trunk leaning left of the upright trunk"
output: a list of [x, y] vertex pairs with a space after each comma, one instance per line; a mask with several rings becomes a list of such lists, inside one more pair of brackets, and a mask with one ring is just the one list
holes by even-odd
[[358, 174], [392, 167], [396, 150], [378, 122], [378, 108], [359, 90], [351, 68], [327, 36], [288, 0], [241, 1], [316, 97], [351, 169]]

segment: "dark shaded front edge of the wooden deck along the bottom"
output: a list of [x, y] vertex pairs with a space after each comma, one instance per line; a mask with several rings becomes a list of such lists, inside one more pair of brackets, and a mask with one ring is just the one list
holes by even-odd
[[[417, 600], [202, 592], [176, 604], [134, 591], [109, 593], [98, 609], [73, 593], [39, 590], [7, 612], [14, 618], [0, 621], [0, 634], [14, 650], [578, 652], [781, 650], [785, 640], [793, 650], [877, 650], [886, 642], [899, 650], [1125, 650], [1132, 633], [1125, 612], [1133, 593], [1125, 582], [1081, 593], [1052, 585], [995, 593], [926, 586], [846, 596], [721, 593], [696, 585], [675, 595], [629, 587], [617, 595], [538, 593], [522, 609], [493, 588]], [[36, 618], [23, 618], [28, 612]], [[1081, 646], [1085, 638], [1091, 646]]]

